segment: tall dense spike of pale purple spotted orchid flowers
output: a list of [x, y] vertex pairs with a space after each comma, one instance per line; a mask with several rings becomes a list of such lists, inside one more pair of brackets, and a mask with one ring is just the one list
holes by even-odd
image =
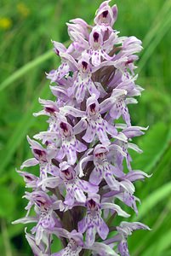
[[[40, 175], [18, 171], [31, 192], [25, 195], [26, 217], [14, 222], [35, 224], [26, 239], [37, 256], [127, 256], [132, 231], [149, 230], [138, 222], [113, 221], [129, 217], [118, 200], [138, 213], [134, 182], [148, 175], [132, 169], [129, 154], [129, 148], [142, 152], [132, 139], [146, 130], [131, 125], [128, 113], [142, 91], [134, 74], [141, 41], [112, 29], [117, 6], [109, 3], [101, 3], [94, 26], [70, 20], [67, 49], [53, 41], [61, 64], [47, 78], [56, 99], [39, 99], [43, 110], [34, 113], [48, 116], [48, 131], [27, 137], [33, 158], [21, 166], [38, 165]], [[60, 252], [51, 250], [53, 236], [64, 246]]]

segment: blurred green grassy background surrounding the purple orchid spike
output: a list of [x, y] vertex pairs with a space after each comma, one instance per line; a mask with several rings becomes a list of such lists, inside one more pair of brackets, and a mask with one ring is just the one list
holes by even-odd
[[[51, 39], [68, 40], [66, 21], [76, 17], [92, 23], [102, 1], [0, 0], [0, 255], [29, 256], [24, 225], [11, 221], [25, 215], [25, 184], [15, 172], [31, 153], [26, 134], [46, 129], [38, 97], [50, 99], [45, 72], [58, 67]], [[150, 125], [136, 143], [144, 154], [132, 154], [134, 169], [153, 176], [137, 183], [142, 203], [132, 218], [148, 224], [151, 231], [131, 236], [131, 255], [171, 255], [171, 1], [113, 1], [119, 9], [115, 28], [122, 36], [143, 41], [137, 72], [145, 88], [139, 104], [131, 106], [133, 125]], [[128, 209], [127, 209], [128, 211]], [[55, 247], [60, 247], [56, 242]]]

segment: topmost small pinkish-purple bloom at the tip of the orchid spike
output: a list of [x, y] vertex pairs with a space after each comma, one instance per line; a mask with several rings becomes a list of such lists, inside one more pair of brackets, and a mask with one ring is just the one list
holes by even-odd
[[94, 23], [96, 25], [105, 24], [108, 26], [113, 26], [117, 20], [117, 5], [109, 6], [111, 0], [105, 1], [100, 4], [100, 8], [97, 9], [94, 18]]

